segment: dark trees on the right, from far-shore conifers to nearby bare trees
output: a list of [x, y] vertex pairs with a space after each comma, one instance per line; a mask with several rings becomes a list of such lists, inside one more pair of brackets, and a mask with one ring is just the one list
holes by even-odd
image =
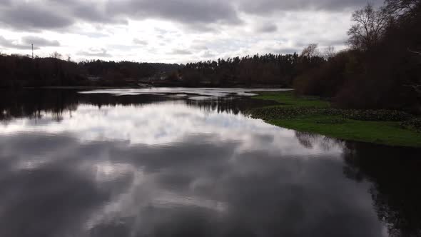
[[387, 0], [355, 11], [349, 48], [199, 61], [183, 68], [188, 84], [293, 86], [342, 108], [410, 109], [421, 102], [421, 0]]

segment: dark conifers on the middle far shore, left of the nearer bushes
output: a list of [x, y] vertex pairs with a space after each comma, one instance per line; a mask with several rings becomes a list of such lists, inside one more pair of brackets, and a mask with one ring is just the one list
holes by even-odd
[[183, 67], [183, 81], [191, 86], [282, 86], [290, 87], [305, 71], [321, 66], [331, 48], [315, 54], [315, 44], [302, 54], [265, 54], [217, 61], [199, 61]]

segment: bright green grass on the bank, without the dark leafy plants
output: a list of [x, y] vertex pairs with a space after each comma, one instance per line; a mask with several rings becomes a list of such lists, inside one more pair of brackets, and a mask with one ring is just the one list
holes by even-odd
[[[309, 97], [295, 97], [293, 92], [263, 93], [255, 99], [269, 99], [281, 103], [276, 107], [327, 108], [329, 102]], [[271, 108], [267, 108], [271, 109]], [[253, 114], [253, 113], [252, 113]], [[263, 118], [262, 118], [263, 119]], [[293, 118], [267, 119], [268, 123], [296, 131], [319, 133], [332, 138], [364, 141], [389, 146], [421, 147], [421, 133], [402, 128], [399, 121], [359, 121], [342, 116], [301, 114]]]

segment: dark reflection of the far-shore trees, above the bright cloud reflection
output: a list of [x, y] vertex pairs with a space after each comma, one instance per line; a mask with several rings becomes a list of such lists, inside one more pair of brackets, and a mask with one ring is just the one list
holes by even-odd
[[[61, 121], [64, 113], [76, 111], [78, 104], [102, 106], [141, 106], [153, 102], [174, 100], [168, 96], [142, 94], [138, 96], [115, 96], [113, 94], [78, 94], [71, 89], [1, 91], [0, 121], [7, 122], [14, 118], [41, 119], [51, 114], [55, 121]], [[183, 99], [176, 99], [183, 101]], [[253, 100], [248, 97], [226, 97], [205, 100], [185, 99], [188, 106], [218, 113], [239, 114], [240, 111], [255, 106], [270, 105], [272, 101]]]

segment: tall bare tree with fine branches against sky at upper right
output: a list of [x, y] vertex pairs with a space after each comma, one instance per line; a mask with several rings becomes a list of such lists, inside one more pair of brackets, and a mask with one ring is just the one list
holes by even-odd
[[348, 30], [348, 44], [354, 49], [367, 50], [382, 37], [390, 15], [385, 8], [375, 10], [371, 4], [352, 14], [354, 25]]

